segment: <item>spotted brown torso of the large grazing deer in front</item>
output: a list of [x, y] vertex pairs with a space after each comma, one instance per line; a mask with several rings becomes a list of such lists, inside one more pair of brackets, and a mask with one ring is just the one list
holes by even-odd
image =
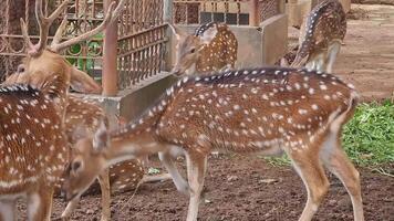
[[329, 125], [353, 106], [351, 97], [350, 87], [338, 77], [293, 69], [186, 77], [160, 99], [157, 109], [164, 113], [157, 135], [197, 151], [276, 152], [277, 147], [293, 146], [298, 141], [293, 139], [305, 140]]

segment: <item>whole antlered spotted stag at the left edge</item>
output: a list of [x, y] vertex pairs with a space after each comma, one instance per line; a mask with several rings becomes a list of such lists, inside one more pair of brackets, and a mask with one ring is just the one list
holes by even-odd
[[18, 81], [28, 85], [11, 85], [0, 92], [0, 220], [14, 219], [14, 203], [20, 197], [28, 198], [29, 220], [50, 219], [53, 188], [61, 180], [69, 159], [64, 136], [68, 90], [72, 85], [81, 92], [101, 91], [87, 74], [71, 66], [58, 52], [102, 31], [117, 18], [124, 0], [115, 10], [114, 3], [110, 6], [103, 23], [96, 29], [60, 42], [65, 27], [64, 17], [52, 44], [46, 46], [49, 28], [69, 2], [65, 0], [45, 18], [42, 1], [35, 1], [40, 27], [37, 44], [30, 41], [27, 25], [21, 20], [28, 56], [20, 69], [23, 74], [18, 75]]

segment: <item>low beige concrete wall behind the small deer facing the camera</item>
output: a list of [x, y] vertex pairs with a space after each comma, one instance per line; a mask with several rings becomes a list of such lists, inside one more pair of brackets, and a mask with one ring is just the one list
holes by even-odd
[[[279, 14], [272, 17], [259, 27], [235, 27], [231, 31], [238, 40], [237, 67], [261, 66], [273, 64], [287, 52], [288, 23], [287, 15]], [[187, 33], [194, 33], [198, 25], [177, 25]], [[176, 38], [170, 36], [169, 59], [167, 62], [174, 65]]]

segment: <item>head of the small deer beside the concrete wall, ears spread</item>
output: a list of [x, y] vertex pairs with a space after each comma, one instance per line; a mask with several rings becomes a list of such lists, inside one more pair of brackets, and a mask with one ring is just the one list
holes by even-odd
[[176, 44], [176, 61], [173, 69], [173, 74], [180, 76], [186, 71], [193, 74], [195, 72], [195, 65], [200, 57], [200, 51], [208, 45], [216, 34], [218, 33], [217, 28], [211, 28], [206, 30], [201, 35], [187, 34], [179, 28], [168, 24], [177, 40]]

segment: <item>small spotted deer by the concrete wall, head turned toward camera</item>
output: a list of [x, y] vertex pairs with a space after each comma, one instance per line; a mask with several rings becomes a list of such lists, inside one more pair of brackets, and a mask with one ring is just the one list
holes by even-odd
[[194, 34], [187, 34], [169, 24], [176, 40], [175, 75], [204, 74], [226, 67], [235, 67], [238, 41], [224, 24], [210, 22], [198, 27]]

